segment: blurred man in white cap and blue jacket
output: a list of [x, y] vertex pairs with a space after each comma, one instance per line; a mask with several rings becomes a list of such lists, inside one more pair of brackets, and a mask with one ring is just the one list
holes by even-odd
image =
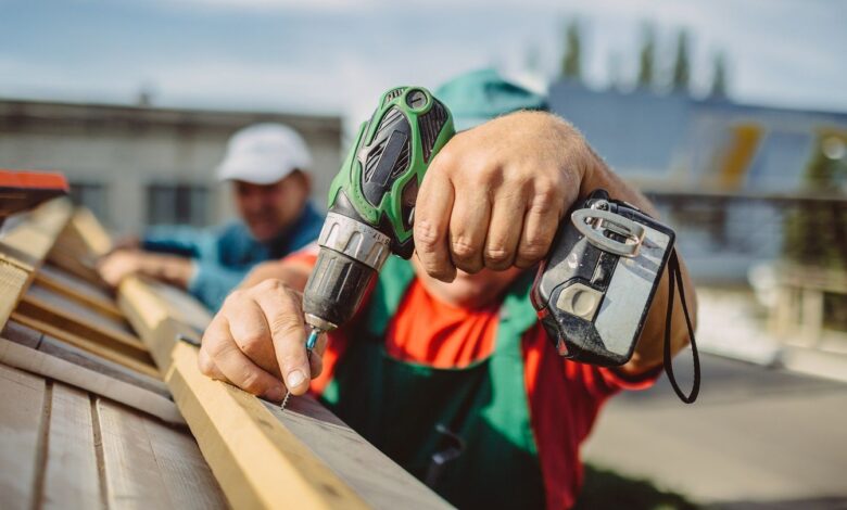
[[220, 181], [231, 181], [241, 217], [215, 229], [154, 227], [130, 246], [103, 258], [100, 273], [117, 285], [144, 275], [188, 290], [210, 309], [258, 263], [314, 241], [324, 217], [308, 202], [312, 155], [300, 135], [280, 124], [258, 124], [229, 140]]

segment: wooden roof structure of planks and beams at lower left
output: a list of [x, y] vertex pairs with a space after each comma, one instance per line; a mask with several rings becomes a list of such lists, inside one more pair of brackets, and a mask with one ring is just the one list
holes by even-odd
[[102, 226], [64, 200], [0, 235], [3, 508], [445, 508], [308, 398], [281, 412], [197, 369], [211, 319], [94, 264]]

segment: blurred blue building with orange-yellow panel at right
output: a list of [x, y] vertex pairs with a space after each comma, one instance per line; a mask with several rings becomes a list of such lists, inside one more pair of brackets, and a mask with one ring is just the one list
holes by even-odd
[[813, 170], [826, 144], [825, 157], [847, 169], [847, 113], [597, 91], [573, 80], [549, 93], [553, 111], [654, 199], [700, 281], [742, 282], [758, 262], [781, 258], [786, 225], [798, 214], [822, 218], [805, 222], [804, 244], [847, 235], [847, 173], [822, 182]]

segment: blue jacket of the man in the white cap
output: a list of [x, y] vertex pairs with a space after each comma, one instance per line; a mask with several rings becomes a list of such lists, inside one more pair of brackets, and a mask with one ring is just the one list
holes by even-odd
[[215, 311], [253, 266], [300, 250], [317, 239], [323, 225], [324, 216], [306, 203], [294, 225], [268, 243], [256, 241], [243, 222], [233, 221], [211, 229], [153, 227], [146, 232], [142, 247], [194, 259], [197, 269], [188, 291]]

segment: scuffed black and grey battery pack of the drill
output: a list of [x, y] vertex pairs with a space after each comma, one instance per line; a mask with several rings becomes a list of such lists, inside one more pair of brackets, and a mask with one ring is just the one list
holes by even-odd
[[599, 366], [629, 361], [673, 241], [670, 227], [604, 190], [571, 209], [531, 293], [558, 353]]

